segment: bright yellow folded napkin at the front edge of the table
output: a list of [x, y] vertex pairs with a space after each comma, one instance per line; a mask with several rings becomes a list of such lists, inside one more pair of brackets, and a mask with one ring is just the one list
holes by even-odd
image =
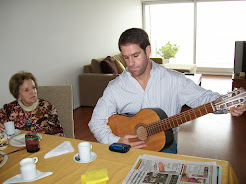
[[81, 175], [82, 184], [106, 184], [108, 180], [107, 168], [87, 171], [85, 174]]

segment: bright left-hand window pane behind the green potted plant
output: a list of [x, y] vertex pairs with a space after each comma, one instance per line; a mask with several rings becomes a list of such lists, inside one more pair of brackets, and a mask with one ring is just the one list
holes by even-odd
[[170, 41], [180, 47], [170, 62], [193, 63], [193, 9], [193, 3], [154, 4], [146, 7], [152, 57], [160, 57], [157, 51]]

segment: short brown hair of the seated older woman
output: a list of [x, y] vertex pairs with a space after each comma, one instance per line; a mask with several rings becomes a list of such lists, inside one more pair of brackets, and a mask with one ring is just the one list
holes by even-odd
[[13, 95], [15, 99], [18, 99], [19, 97], [19, 88], [23, 84], [24, 80], [33, 80], [35, 83], [36, 88], [38, 87], [36, 78], [33, 76], [33, 74], [29, 72], [19, 72], [14, 74], [10, 80], [9, 80], [9, 91]]

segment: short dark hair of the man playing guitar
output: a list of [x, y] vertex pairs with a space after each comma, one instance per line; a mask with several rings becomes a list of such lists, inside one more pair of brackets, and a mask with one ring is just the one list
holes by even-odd
[[127, 29], [119, 38], [118, 47], [120, 51], [121, 46], [128, 44], [137, 44], [145, 52], [146, 47], [150, 45], [149, 36], [143, 29], [140, 28]]

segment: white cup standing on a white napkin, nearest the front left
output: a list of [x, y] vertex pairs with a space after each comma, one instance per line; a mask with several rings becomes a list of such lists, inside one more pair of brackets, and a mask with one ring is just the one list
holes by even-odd
[[23, 180], [32, 180], [37, 177], [37, 157], [24, 158], [20, 161], [20, 171]]

